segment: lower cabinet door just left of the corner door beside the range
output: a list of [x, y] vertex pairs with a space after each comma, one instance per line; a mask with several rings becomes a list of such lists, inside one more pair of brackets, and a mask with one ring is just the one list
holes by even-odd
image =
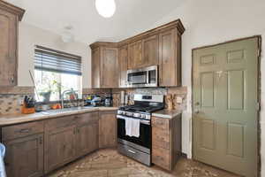
[[98, 149], [98, 123], [77, 127], [77, 156], [83, 156]]

